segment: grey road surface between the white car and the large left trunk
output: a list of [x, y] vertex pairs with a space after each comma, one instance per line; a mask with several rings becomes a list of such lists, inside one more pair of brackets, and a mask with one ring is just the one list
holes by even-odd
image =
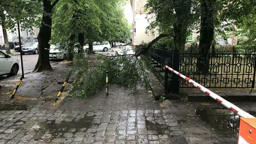
[[[21, 60], [20, 60], [20, 55], [12, 56], [14, 58], [17, 58], [19, 60], [19, 72], [18, 74], [21, 74]], [[38, 54], [25, 54], [22, 55], [23, 57], [23, 67], [24, 67], [24, 73], [26, 72], [31, 72], [34, 70], [36, 66], [36, 62], [38, 60]], [[50, 61], [50, 63], [55, 63], [56, 61]], [[3, 80], [4, 78], [8, 78], [7, 76], [0, 76], [0, 80]]]

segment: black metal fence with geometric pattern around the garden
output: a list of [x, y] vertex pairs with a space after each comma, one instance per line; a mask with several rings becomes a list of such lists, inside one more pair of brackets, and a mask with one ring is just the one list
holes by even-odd
[[[149, 56], [160, 65], [168, 65], [192, 78], [206, 88], [254, 88], [256, 75], [256, 47], [222, 47], [216, 53], [209, 53], [208, 71], [198, 70], [198, 48], [190, 52], [151, 48]], [[178, 56], [179, 60], [176, 60]], [[193, 88], [193, 85], [180, 79], [180, 88]]]

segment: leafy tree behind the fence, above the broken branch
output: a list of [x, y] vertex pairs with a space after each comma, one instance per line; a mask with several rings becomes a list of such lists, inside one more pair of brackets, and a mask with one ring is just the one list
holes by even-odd
[[173, 35], [175, 49], [185, 47], [186, 36], [197, 18], [196, 0], [148, 0], [145, 5], [152, 20], [148, 30]]

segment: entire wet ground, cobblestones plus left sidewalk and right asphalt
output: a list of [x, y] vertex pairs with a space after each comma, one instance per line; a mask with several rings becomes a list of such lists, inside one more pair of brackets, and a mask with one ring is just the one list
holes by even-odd
[[[54, 99], [70, 63], [54, 70], [27, 74], [15, 98], [17, 78], [3, 80], [0, 89], [0, 144], [235, 144], [239, 118], [217, 102], [154, 100], [140, 83], [137, 92], [110, 84], [109, 96], [98, 90], [86, 100]], [[236, 102], [256, 115], [253, 102]]]

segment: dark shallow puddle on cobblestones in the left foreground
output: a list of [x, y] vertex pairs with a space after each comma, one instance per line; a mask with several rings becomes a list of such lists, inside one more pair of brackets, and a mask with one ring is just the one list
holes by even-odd
[[94, 116], [84, 116], [80, 119], [75, 118], [71, 122], [62, 121], [56, 123], [55, 120], [41, 122], [38, 124], [40, 126], [40, 131], [35, 139], [39, 140], [45, 133], [51, 134], [51, 138], [59, 138], [63, 137], [65, 133], [76, 134], [76, 132], [85, 132], [88, 128], [91, 128], [94, 125], [92, 123], [93, 117]]

